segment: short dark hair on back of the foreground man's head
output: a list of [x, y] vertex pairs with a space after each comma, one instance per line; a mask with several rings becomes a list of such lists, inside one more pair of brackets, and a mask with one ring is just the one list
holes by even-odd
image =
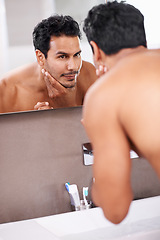
[[88, 41], [93, 40], [106, 55], [123, 48], [146, 47], [144, 17], [124, 1], [93, 7], [84, 20], [83, 30]]

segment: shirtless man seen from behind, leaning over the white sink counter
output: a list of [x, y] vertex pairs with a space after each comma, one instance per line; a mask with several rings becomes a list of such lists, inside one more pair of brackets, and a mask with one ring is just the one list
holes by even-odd
[[94, 153], [92, 196], [117, 224], [133, 199], [130, 149], [160, 177], [160, 52], [146, 48], [143, 15], [124, 2], [92, 8], [84, 31], [97, 72], [106, 71], [88, 90], [83, 107]]

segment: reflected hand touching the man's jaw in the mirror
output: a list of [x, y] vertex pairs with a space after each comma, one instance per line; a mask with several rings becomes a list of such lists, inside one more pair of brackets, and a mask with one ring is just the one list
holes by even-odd
[[61, 97], [67, 93], [67, 90], [56, 79], [54, 79], [51, 74], [44, 69], [42, 69], [42, 74], [44, 75], [44, 80], [50, 98]]

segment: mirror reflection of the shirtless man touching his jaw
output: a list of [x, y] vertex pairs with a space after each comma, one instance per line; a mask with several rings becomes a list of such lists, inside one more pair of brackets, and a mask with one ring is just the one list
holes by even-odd
[[0, 112], [78, 106], [96, 80], [95, 67], [82, 61], [80, 29], [70, 16], [51, 16], [33, 31], [37, 62], [0, 81]]

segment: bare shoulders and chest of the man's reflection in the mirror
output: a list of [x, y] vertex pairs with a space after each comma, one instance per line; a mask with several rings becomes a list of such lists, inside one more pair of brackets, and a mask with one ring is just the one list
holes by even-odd
[[[65, 96], [66, 106], [67, 100], [68, 106], [82, 105], [87, 89], [95, 80], [94, 66], [83, 61], [75, 90]], [[1, 113], [34, 110], [37, 102], [49, 102], [51, 106], [56, 108], [63, 107], [59, 105], [58, 101], [53, 101], [48, 96], [47, 87], [37, 63], [17, 68], [0, 81]]]

